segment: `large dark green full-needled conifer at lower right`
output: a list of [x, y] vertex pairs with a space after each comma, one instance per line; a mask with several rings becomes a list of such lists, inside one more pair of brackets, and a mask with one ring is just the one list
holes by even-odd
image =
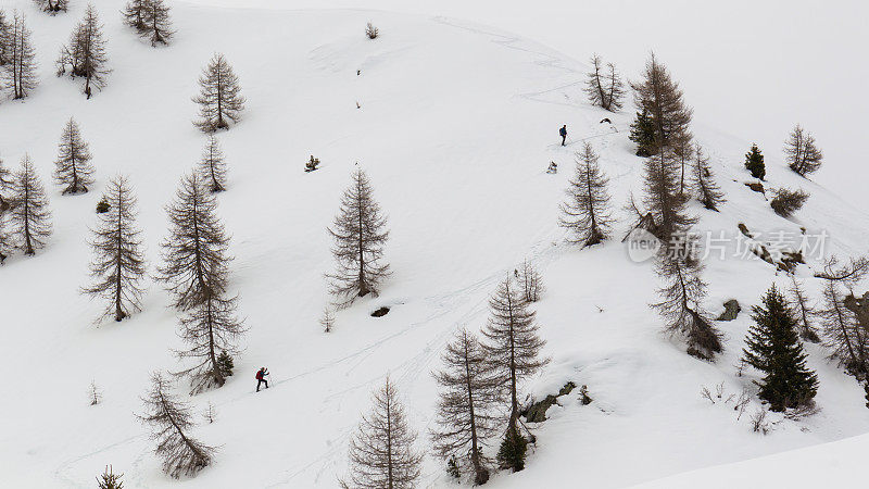
[[818, 377], [806, 366], [806, 354], [799, 343], [797, 321], [773, 285], [763, 305], [753, 308], [755, 325], [748, 330], [746, 362], [766, 374], [757, 384], [760, 399], [772, 411], [807, 405], [818, 391]]

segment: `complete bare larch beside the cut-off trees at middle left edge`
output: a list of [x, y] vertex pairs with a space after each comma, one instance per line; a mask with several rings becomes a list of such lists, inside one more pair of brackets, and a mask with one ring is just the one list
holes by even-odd
[[12, 196], [15, 206], [10, 218], [16, 241], [24, 249], [24, 254], [36, 254], [36, 250], [42, 248], [51, 236], [51, 212], [48, 210], [45, 187], [27, 154], [21, 160], [21, 170], [15, 173]]

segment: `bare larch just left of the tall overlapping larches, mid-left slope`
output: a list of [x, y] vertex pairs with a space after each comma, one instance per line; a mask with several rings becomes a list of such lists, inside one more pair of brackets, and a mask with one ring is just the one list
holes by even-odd
[[90, 241], [93, 284], [83, 291], [106, 300], [105, 312], [100, 318], [114, 314], [115, 321], [122, 321], [141, 311], [147, 266], [140, 231], [136, 228], [136, 196], [127, 179], [123, 176], [113, 178], [103, 200], [109, 203], [109, 212], [99, 214], [100, 224], [92, 230]]

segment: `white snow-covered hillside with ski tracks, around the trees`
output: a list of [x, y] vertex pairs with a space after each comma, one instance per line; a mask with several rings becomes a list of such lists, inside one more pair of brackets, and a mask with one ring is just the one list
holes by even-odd
[[[728, 299], [743, 305], [736, 321], [719, 324], [723, 354], [702, 362], [660, 331], [648, 308], [659, 285], [653, 266], [629, 260], [619, 242], [632, 224], [621, 208], [642, 188], [642, 159], [628, 140], [633, 110], [609, 114], [589, 105], [583, 61], [454, 18], [192, 3], [173, 4], [176, 38], [153, 49], [122, 24], [121, 3], [95, 1], [113, 73], [90, 100], [79, 82], [53, 74], [83, 2], [53, 17], [27, 0], [3, 4], [27, 16], [41, 84], [24, 102], [0, 103], [0, 156], [16, 167], [29, 153], [49, 189], [54, 233], [36, 256], [16, 252], [0, 268], [0, 486], [92, 487], [112, 464], [125, 487], [337, 487], [349, 435], [387, 374], [420, 434], [419, 448], [428, 450], [437, 398], [430, 373], [443, 346], [457, 327], [484, 325], [489, 297], [524, 260], [539, 267], [547, 289], [536, 309], [552, 362], [522, 390], [541, 399], [574, 381], [588, 386], [593, 402], [582, 405], [574, 394], [551, 408], [527, 468], [495, 474], [492, 488], [628, 487], [869, 432], [862, 388], [816, 344], [806, 346], [820, 380], [821, 411], [811, 417], [781, 421], [760, 436], [747, 415], [735, 421], [730, 405], [700, 396], [722, 383], [727, 394], [754, 392], [757, 373], [736, 376], [747, 310], [773, 281], [788, 284], [773, 266], [734, 256], [740, 223], [764, 235], [826, 231], [827, 254], [857, 255], [869, 242], [869, 214], [790, 172], [778, 148], [766, 152], [769, 186], [811, 193], [792, 220], [744, 186], [752, 141], [728, 136], [726, 127], [694, 127], [728, 198], [720, 213], [691, 208], [702, 217], [698, 230], [729, 238], [726, 259], [706, 263], [706, 305], [715, 314]], [[380, 38], [364, 36], [368, 21]], [[214, 52], [232, 63], [248, 99], [243, 120], [218, 135], [229, 166], [218, 210], [232, 236], [230, 289], [250, 330], [226, 386], [188, 397], [178, 385], [198, 412], [214, 405], [215, 423], [196, 435], [219, 446], [213, 466], [179, 482], [161, 472], [134, 416], [149, 374], [182, 366], [171, 352], [182, 344], [168, 293], [151, 284], [141, 313], [95, 325], [101, 304], [79, 288], [88, 281], [93, 210], [116, 174], [127, 175], [138, 196], [150, 271], [160, 263], [164, 206], [205, 143], [191, 124], [190, 98]], [[691, 103], [692, 93], [685, 97]], [[97, 168], [97, 184], [84, 196], [61, 196], [51, 180], [71, 115]], [[612, 127], [600, 124], [603, 117]], [[567, 148], [558, 145], [563, 124]], [[617, 239], [590, 250], [567, 244], [557, 225], [583, 141], [601, 154], [618, 217]], [[322, 167], [304, 173], [310, 155]], [[551, 161], [557, 174], [545, 173]], [[335, 330], [325, 334], [323, 275], [333, 269], [326, 227], [357, 165], [388, 216], [393, 275], [378, 298], [339, 311]], [[820, 263], [807, 256], [797, 268], [815, 297], [821, 284], [810, 277]], [[389, 314], [370, 316], [383, 305]], [[273, 386], [255, 393], [260, 366], [273, 373]], [[97, 406], [87, 402], [91, 380], [104, 396]], [[750, 412], [759, 405], [754, 397]], [[845, 442], [864, 450], [867, 443]], [[738, 464], [709, 477], [730, 467], [757, 469]], [[427, 455], [420, 487], [455, 486], [441, 461]]]

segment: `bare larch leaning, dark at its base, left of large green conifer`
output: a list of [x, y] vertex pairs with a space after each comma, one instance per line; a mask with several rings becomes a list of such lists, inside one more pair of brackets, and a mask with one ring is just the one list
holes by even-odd
[[692, 256], [688, 242], [666, 247], [658, 256], [656, 272], [666, 280], [658, 289], [660, 301], [652, 304], [665, 321], [665, 330], [681, 337], [688, 344], [688, 354], [711, 361], [720, 353], [721, 334], [703, 308], [706, 283], [703, 265]]

